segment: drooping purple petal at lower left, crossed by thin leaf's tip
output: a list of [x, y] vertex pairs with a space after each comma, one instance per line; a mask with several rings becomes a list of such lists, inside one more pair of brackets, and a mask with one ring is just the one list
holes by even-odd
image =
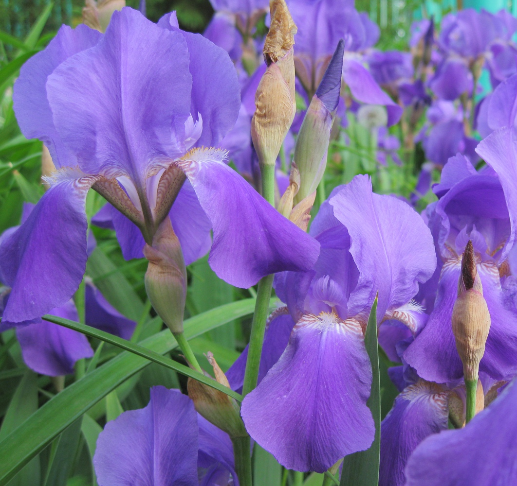
[[[69, 300], [49, 314], [79, 321], [77, 309]], [[94, 351], [84, 334], [42, 320], [17, 328], [16, 335], [22, 348], [25, 364], [42, 375], [60, 376], [73, 373], [77, 360], [92, 358]]]

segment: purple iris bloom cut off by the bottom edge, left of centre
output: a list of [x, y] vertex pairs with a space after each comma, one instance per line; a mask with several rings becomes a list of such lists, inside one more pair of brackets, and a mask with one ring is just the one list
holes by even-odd
[[99, 434], [99, 486], [226, 486], [230, 476], [238, 486], [228, 434], [179, 390], [154, 386], [150, 395], [147, 407], [124, 412]]

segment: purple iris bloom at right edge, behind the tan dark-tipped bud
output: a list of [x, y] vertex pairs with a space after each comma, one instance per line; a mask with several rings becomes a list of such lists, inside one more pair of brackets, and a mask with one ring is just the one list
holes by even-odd
[[[427, 324], [404, 353], [405, 361], [428, 381], [447, 383], [463, 376], [450, 322], [461, 254], [468, 240], [474, 245], [492, 321], [479, 370], [495, 380], [508, 379], [517, 372], [517, 328], [513, 324], [517, 307], [512, 299], [515, 278], [507, 262], [515, 240], [517, 158], [512, 153], [511, 133], [505, 130], [494, 132], [477, 149], [490, 167], [477, 172], [458, 154], [449, 159], [442, 181], [433, 188], [439, 200], [427, 213], [439, 262], [432, 279], [437, 281], [436, 300]], [[426, 299], [429, 308], [431, 289]]]

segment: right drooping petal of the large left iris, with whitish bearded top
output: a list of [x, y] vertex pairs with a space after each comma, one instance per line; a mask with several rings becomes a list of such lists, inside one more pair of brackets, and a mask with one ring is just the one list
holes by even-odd
[[309, 270], [320, 251], [317, 241], [280, 215], [223, 157], [222, 151], [195, 150], [175, 162], [211, 221], [212, 269], [243, 288], [270, 273]]

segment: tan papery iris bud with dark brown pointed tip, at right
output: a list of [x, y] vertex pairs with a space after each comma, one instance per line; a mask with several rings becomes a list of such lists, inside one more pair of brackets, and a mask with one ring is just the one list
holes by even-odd
[[465, 381], [477, 381], [479, 362], [483, 358], [490, 330], [490, 313], [477, 274], [472, 241], [468, 241], [461, 262], [458, 298], [452, 310], [452, 332], [463, 363]]

